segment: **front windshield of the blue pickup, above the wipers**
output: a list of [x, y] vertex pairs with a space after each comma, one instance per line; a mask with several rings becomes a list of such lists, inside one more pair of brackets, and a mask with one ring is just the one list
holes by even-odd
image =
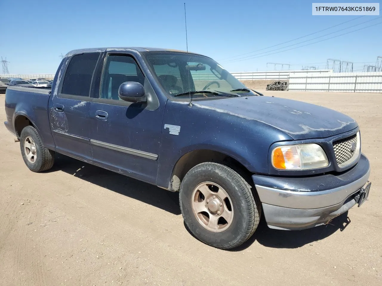
[[[193, 99], [233, 95], [231, 90], [245, 88], [239, 80], [223, 69], [213, 59], [205, 56], [174, 53], [149, 52], [146, 59], [157, 76], [159, 84], [171, 97], [188, 98], [188, 92], [216, 91], [217, 93], [193, 93]], [[186, 93], [182, 95], [181, 93]], [[243, 92], [241, 92], [243, 94]], [[251, 95], [247, 92], [246, 95]]]

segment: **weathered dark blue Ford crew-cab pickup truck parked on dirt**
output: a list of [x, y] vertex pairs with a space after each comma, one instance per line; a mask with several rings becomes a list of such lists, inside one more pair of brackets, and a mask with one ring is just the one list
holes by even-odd
[[244, 243], [262, 214], [270, 228], [315, 227], [370, 190], [354, 119], [263, 96], [196, 53], [73, 50], [51, 90], [9, 87], [5, 109], [31, 171], [57, 152], [179, 191], [191, 233], [221, 249]]

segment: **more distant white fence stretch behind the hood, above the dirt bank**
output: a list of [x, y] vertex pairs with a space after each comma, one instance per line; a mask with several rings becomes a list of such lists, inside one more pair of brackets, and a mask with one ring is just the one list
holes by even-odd
[[319, 74], [328, 74], [332, 72], [331, 69], [317, 69], [312, 71], [265, 71], [265, 72], [231, 72], [231, 74], [238, 80], [288, 80], [291, 74], [312, 74], [314, 76]]

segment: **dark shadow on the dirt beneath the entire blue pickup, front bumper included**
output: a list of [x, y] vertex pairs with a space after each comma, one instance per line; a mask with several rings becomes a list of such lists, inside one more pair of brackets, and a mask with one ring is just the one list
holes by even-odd
[[[110, 191], [158, 207], [171, 214], [181, 214], [178, 192], [172, 193], [149, 183], [141, 182], [62, 154], [56, 154], [56, 159], [53, 168], [48, 172], [60, 170], [94, 185], [102, 186]], [[343, 231], [349, 223], [350, 220], [346, 212], [330, 221], [327, 225], [300, 231], [274, 230], [267, 227], [263, 215], [254, 235], [241, 246], [231, 251], [242, 251], [251, 246], [255, 240], [265, 247], [298, 248], [324, 239], [337, 230]], [[186, 225], [185, 228], [192, 235]]]

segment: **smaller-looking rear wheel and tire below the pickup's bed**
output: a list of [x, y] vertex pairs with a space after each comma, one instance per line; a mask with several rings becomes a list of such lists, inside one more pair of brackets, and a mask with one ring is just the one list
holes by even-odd
[[39, 133], [33, 126], [26, 126], [20, 135], [21, 156], [29, 170], [43, 172], [54, 164], [54, 151], [44, 147]]

